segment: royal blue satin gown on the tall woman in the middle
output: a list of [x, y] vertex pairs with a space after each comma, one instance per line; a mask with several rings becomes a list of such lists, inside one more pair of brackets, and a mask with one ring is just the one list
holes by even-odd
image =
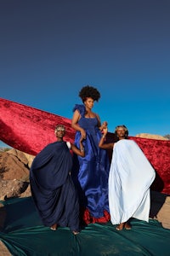
[[[109, 212], [108, 177], [110, 161], [105, 149], [99, 148], [102, 136], [97, 118], [85, 118], [84, 105], [76, 105], [73, 111], [81, 114], [78, 124], [86, 131], [87, 137], [83, 141], [85, 157], [74, 155], [74, 165], [71, 172], [78, 192], [80, 206], [88, 208], [91, 216], [101, 218], [104, 211]], [[76, 132], [75, 144], [79, 147], [80, 131]]]

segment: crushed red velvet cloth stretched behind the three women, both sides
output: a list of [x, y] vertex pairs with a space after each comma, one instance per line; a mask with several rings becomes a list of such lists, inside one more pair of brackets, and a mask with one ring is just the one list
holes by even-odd
[[[55, 141], [54, 127], [58, 124], [66, 127], [65, 141], [73, 143], [75, 131], [71, 128], [71, 119], [0, 99], [0, 139], [13, 148], [36, 155], [48, 143]], [[114, 134], [109, 133], [108, 142], [113, 138]], [[156, 170], [156, 179], [151, 189], [170, 194], [170, 141], [129, 138], [139, 144]], [[109, 154], [111, 156], [111, 152]]]

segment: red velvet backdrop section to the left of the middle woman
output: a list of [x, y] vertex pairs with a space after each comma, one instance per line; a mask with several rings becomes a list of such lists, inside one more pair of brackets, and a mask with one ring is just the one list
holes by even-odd
[[65, 140], [73, 142], [71, 119], [0, 99], [0, 139], [12, 148], [36, 155], [56, 140], [54, 127], [58, 124], [66, 127]]

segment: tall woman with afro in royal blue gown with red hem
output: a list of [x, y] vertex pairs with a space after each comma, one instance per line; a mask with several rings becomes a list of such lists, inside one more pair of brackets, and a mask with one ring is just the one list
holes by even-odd
[[[92, 111], [94, 102], [99, 101], [99, 91], [84, 86], [79, 92], [82, 105], [75, 105], [71, 127], [76, 132], [75, 144], [84, 138], [85, 157], [77, 156], [71, 175], [79, 192], [82, 218], [86, 223], [106, 222], [110, 219], [108, 204], [108, 176], [110, 161], [105, 149], [99, 148], [102, 130], [107, 126], [100, 123], [99, 115]], [[87, 212], [88, 211], [88, 212]], [[88, 219], [87, 219], [88, 218]]]

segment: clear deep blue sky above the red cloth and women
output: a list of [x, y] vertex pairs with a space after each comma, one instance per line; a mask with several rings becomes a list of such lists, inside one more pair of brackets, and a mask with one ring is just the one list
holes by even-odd
[[3, 0], [0, 96], [71, 119], [82, 86], [109, 131], [170, 134], [169, 0]]

